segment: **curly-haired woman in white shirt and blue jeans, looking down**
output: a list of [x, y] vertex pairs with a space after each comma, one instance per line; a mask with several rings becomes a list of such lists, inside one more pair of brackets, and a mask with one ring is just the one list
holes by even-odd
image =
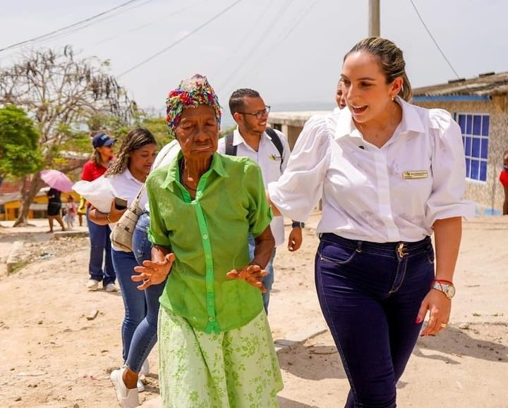
[[[156, 156], [157, 144], [150, 130], [134, 128], [123, 140], [119, 153], [104, 177], [114, 188], [117, 197], [127, 200], [127, 205], [135, 199], [145, 183]], [[147, 194], [140, 197], [140, 206], [147, 203]], [[116, 209], [111, 204], [109, 214], [102, 213], [93, 206], [90, 209], [90, 220], [99, 225], [107, 225], [113, 230], [125, 209]], [[138, 373], [143, 363], [157, 342], [157, 314], [159, 312], [159, 296], [164, 284], [153, 285], [150, 290], [138, 290], [138, 283], [131, 280], [134, 266], [138, 266], [133, 252], [123, 252], [111, 243], [111, 258], [118, 278], [125, 316], [121, 326], [123, 344], [123, 361], [121, 370], [111, 372], [111, 381], [116, 396], [122, 407], [131, 408], [139, 405]]]

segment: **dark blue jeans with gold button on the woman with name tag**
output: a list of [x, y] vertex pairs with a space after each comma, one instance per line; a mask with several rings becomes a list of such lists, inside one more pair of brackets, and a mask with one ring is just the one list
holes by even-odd
[[315, 284], [351, 385], [346, 408], [396, 407], [395, 385], [418, 340], [416, 316], [433, 278], [430, 237], [377, 244], [321, 235]]

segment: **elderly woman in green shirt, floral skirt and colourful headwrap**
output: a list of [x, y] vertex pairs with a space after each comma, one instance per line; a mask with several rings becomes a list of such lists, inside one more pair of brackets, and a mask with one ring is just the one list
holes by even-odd
[[152, 260], [133, 276], [145, 289], [169, 274], [159, 311], [162, 402], [278, 407], [282, 377], [261, 296], [274, 238], [260, 169], [216, 152], [221, 111], [205, 77], [171, 91], [167, 113], [181, 152], [147, 179]]

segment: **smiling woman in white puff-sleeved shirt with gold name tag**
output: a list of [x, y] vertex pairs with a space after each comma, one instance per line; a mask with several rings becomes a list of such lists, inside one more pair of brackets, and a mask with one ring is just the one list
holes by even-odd
[[461, 130], [406, 102], [402, 51], [387, 39], [358, 42], [341, 82], [349, 109], [308, 120], [268, 191], [276, 214], [298, 220], [322, 199], [315, 283], [351, 385], [346, 407], [395, 407], [425, 315], [421, 335], [449, 321], [461, 217], [474, 213]]

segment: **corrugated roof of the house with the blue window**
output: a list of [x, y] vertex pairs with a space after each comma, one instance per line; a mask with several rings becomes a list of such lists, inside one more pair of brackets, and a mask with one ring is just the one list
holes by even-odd
[[413, 95], [495, 95], [508, 93], [508, 72], [485, 73], [477, 78], [450, 80], [446, 84], [432, 85], [413, 89]]

